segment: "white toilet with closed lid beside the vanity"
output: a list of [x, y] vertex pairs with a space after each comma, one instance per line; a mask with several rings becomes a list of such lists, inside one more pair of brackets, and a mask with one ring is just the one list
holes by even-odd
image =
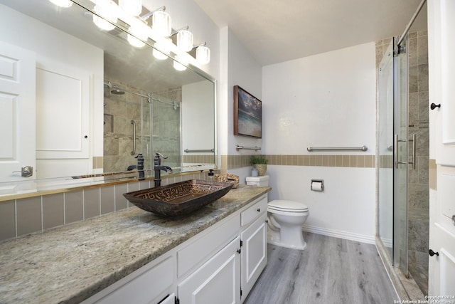
[[[269, 186], [269, 176], [247, 177], [247, 184], [267, 187]], [[269, 201], [267, 211], [269, 219], [268, 243], [304, 250], [306, 242], [301, 231], [301, 225], [309, 216], [308, 207], [299, 201], [274, 200]]]

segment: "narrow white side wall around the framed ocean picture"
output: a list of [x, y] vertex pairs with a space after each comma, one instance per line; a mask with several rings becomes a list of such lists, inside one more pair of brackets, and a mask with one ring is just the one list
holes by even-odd
[[[218, 108], [218, 125], [220, 132], [220, 154], [240, 155], [252, 154], [252, 150], [235, 150], [235, 145], [262, 146], [262, 140], [234, 135], [234, 85], [262, 99], [262, 66], [252, 57], [249, 51], [240, 43], [228, 27], [221, 31], [221, 75], [220, 75], [220, 104]], [[262, 151], [264, 152], [264, 151]], [[258, 152], [259, 154], [260, 152]], [[240, 177], [240, 183], [245, 183], [245, 177], [250, 175], [250, 168], [230, 169], [230, 173]]]

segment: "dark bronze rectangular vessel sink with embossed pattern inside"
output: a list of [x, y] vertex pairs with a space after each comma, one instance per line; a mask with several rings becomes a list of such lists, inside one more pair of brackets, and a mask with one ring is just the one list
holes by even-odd
[[220, 199], [232, 184], [192, 179], [134, 192], [124, 193], [140, 209], [165, 216], [189, 214]]

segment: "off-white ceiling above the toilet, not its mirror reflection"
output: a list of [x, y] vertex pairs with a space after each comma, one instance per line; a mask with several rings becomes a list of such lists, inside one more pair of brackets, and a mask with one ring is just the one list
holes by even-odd
[[[194, 0], [269, 65], [399, 36], [421, 0]], [[427, 28], [427, 6], [412, 30]]]

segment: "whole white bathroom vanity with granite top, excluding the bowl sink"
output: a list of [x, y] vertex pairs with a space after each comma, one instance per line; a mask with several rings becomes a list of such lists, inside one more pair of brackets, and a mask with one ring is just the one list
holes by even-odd
[[232, 189], [172, 218], [132, 207], [0, 243], [0, 303], [242, 303], [267, 263], [269, 190]]

